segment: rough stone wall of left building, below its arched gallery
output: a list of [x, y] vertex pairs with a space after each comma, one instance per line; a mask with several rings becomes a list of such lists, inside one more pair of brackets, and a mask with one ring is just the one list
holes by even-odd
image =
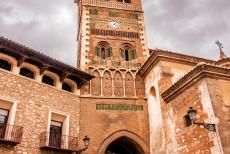
[[46, 154], [39, 149], [39, 137], [47, 132], [50, 110], [69, 115], [69, 135], [79, 134], [79, 97], [0, 70], [0, 100], [17, 102], [14, 125], [23, 127], [22, 142], [16, 147], [0, 145], [1, 154]]

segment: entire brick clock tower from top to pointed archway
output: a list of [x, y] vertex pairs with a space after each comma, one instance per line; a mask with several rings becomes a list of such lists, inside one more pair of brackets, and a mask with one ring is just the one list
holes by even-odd
[[77, 66], [95, 76], [81, 88], [80, 138], [92, 139], [89, 154], [127, 153], [124, 145], [148, 154], [145, 84], [137, 73], [149, 56], [141, 0], [76, 3]]

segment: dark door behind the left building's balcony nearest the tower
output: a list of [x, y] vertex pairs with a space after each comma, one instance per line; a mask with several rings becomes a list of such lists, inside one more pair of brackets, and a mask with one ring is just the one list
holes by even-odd
[[60, 148], [61, 136], [62, 136], [62, 123], [57, 121], [51, 121], [49, 146]]

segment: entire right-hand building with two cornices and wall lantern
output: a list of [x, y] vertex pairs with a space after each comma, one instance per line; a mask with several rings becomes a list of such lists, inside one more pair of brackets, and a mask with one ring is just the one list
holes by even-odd
[[[150, 151], [229, 153], [229, 58], [151, 52], [139, 71], [148, 97]], [[196, 118], [187, 121], [191, 108]]]

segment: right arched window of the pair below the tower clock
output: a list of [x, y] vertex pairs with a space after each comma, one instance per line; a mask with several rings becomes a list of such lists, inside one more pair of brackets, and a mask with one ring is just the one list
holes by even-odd
[[120, 48], [120, 55], [125, 61], [131, 61], [137, 58], [136, 50], [131, 44], [125, 43]]

